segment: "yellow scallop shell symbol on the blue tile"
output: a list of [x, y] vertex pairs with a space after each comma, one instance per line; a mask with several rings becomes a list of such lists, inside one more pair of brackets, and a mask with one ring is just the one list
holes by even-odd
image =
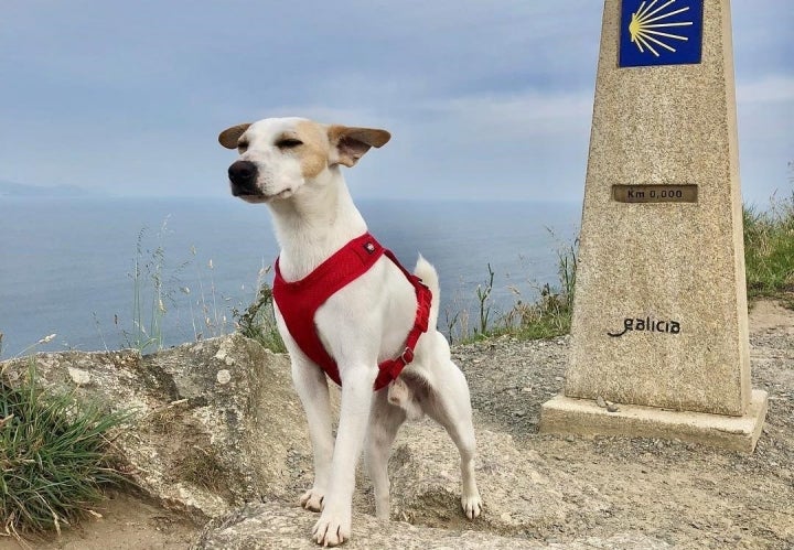
[[[694, 24], [691, 21], [677, 21], [667, 22], [665, 20], [689, 11], [689, 7], [678, 8], [674, 6], [676, 0], [668, 0], [666, 3], [656, 7], [658, 0], [651, 0], [650, 2], [644, 1], [637, 8], [637, 11], [632, 13], [631, 22], [629, 23], [629, 34], [631, 41], [636, 44], [641, 53], [651, 52], [656, 57], [659, 53], [654, 47], [664, 47], [673, 53], [676, 48], [674, 47], [676, 41], [686, 42], [689, 40], [680, 34], [673, 34], [672, 32], [664, 32], [659, 29], [670, 29], [674, 26], [688, 26]], [[679, 4], [680, 6], [680, 4]], [[667, 11], [665, 11], [667, 10]]]

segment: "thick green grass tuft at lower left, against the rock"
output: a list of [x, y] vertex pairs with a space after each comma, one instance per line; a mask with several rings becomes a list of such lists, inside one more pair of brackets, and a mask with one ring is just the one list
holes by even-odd
[[128, 414], [51, 395], [36, 382], [0, 374], [0, 528], [35, 533], [71, 525], [124, 477], [109, 453], [110, 434]]

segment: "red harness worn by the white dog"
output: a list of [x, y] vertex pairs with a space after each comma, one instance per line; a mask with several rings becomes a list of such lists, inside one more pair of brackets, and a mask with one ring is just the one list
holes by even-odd
[[378, 365], [379, 373], [375, 379], [375, 390], [379, 390], [395, 380], [405, 366], [414, 360], [414, 348], [419, 336], [428, 330], [432, 298], [430, 289], [421, 282], [421, 279], [405, 269], [394, 254], [380, 246], [368, 233], [347, 242], [300, 281], [285, 281], [279, 269], [279, 260], [276, 259], [272, 293], [290, 335], [307, 357], [320, 366], [340, 386], [342, 386], [342, 379], [339, 367], [320, 342], [314, 324], [314, 314], [318, 308], [336, 291], [366, 273], [383, 255], [386, 255], [414, 285], [417, 296], [417, 313], [414, 327], [406, 337], [405, 351], [396, 359], [387, 359]]

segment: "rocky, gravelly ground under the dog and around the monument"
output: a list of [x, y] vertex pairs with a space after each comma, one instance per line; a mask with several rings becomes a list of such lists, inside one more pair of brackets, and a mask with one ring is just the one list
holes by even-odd
[[[354, 538], [363, 548], [794, 548], [794, 312], [751, 313], [752, 382], [769, 392], [753, 454], [651, 439], [538, 434], [540, 405], [562, 387], [568, 338], [500, 338], [458, 346], [475, 409], [484, 516], [457, 510], [458, 472], [446, 434], [407, 425], [389, 464], [393, 521], [374, 519], [360, 476]], [[201, 526], [118, 495], [103, 518], [34, 541], [51, 549], [313, 548], [315, 516], [296, 507], [310, 479], [308, 450], [287, 461], [283, 498]], [[407, 525], [407, 524], [410, 525]], [[198, 540], [200, 539], [200, 540]], [[19, 548], [0, 538], [0, 548]]]

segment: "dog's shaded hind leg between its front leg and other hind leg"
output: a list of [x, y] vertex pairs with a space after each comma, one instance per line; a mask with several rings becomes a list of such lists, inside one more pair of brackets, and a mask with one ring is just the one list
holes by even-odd
[[388, 393], [389, 390], [384, 389], [373, 398], [364, 445], [364, 463], [375, 489], [375, 515], [379, 519], [389, 518], [389, 451], [399, 427], [406, 420], [406, 411], [391, 405]]

